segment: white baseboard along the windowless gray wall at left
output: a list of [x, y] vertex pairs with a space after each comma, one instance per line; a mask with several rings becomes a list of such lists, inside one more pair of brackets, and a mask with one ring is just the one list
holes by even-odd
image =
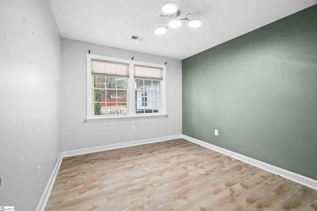
[[44, 211], [46, 203], [49, 200], [49, 197], [50, 197], [50, 194], [51, 194], [51, 191], [52, 191], [52, 188], [53, 188], [53, 185], [54, 185], [54, 182], [55, 182], [55, 179], [56, 179], [56, 176], [57, 176], [57, 173], [58, 173], [58, 170], [59, 170], [59, 167], [60, 167], [62, 160], [63, 160], [63, 158], [61, 156], [59, 156], [57, 163], [53, 169], [53, 172], [51, 174], [51, 177], [49, 179], [49, 182], [46, 185], [45, 190], [43, 192], [43, 195], [40, 199], [38, 207], [36, 208], [36, 211]]

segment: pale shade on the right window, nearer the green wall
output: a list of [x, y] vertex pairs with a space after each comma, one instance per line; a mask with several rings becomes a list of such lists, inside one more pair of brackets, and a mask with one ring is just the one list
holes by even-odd
[[163, 80], [163, 69], [158, 67], [134, 65], [134, 78]]

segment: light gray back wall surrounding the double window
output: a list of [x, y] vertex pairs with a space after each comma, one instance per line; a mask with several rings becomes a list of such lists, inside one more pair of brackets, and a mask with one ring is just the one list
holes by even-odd
[[[118, 57], [166, 65], [168, 118], [84, 123], [86, 118], [86, 54]], [[123, 143], [182, 132], [181, 60], [88, 42], [62, 39], [62, 151]], [[131, 127], [135, 131], [131, 131]]]

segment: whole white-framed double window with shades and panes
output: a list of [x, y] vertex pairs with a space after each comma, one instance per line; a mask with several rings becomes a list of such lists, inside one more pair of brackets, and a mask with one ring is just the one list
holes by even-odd
[[87, 54], [87, 122], [166, 117], [165, 65]]

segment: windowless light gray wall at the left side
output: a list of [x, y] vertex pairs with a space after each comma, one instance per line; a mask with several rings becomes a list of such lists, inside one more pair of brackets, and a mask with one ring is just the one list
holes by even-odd
[[47, 0], [0, 0], [0, 59], [0, 206], [34, 211], [61, 152], [60, 36]]

